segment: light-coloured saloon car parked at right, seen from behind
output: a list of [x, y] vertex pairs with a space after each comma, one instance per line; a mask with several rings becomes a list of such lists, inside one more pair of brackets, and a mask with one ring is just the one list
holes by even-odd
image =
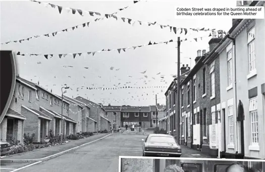
[[142, 146], [143, 156], [181, 156], [181, 148], [171, 135], [149, 134], [142, 141], [144, 141]]

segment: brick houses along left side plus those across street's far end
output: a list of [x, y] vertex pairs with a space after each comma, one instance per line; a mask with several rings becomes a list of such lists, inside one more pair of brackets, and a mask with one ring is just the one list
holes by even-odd
[[140, 107], [104, 106], [81, 96], [64, 95], [62, 99], [39, 82], [17, 76], [11, 104], [0, 124], [0, 138], [7, 142], [12, 139], [23, 142], [24, 133], [35, 134], [34, 142], [40, 143], [50, 130], [54, 135], [70, 135], [110, 131], [126, 124], [139, 125], [140, 121], [143, 127], [156, 127], [158, 119], [165, 116], [164, 109], [164, 106], [157, 105], [155, 112], [156, 106], [142, 106], [140, 112]]

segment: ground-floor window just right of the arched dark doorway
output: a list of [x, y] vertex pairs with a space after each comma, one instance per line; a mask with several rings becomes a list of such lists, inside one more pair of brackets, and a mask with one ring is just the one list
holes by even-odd
[[251, 123], [251, 142], [252, 145], [258, 144], [258, 117], [257, 117], [257, 98], [249, 100], [249, 114]]

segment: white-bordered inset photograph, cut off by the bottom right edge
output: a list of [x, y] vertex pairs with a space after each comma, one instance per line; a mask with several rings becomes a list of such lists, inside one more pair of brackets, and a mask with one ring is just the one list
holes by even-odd
[[119, 172], [262, 172], [264, 161], [207, 158], [120, 157]]

